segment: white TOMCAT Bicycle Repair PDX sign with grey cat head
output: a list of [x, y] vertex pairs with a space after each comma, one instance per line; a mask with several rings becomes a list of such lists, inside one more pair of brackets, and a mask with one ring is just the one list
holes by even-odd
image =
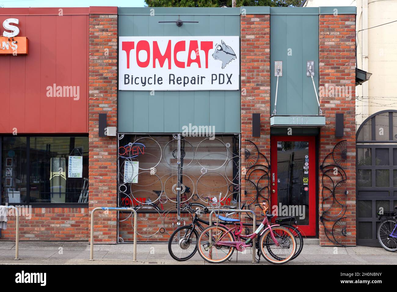
[[119, 37], [120, 90], [238, 90], [239, 37]]

